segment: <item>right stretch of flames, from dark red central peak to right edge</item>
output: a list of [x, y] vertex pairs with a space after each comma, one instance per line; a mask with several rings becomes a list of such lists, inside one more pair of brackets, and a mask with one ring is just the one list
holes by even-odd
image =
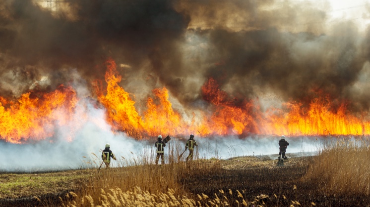
[[211, 103], [214, 113], [205, 117], [203, 134], [286, 134], [286, 135], [363, 135], [370, 123], [350, 114], [347, 104], [337, 109], [329, 96], [316, 92], [308, 107], [291, 101], [282, 109], [270, 108], [262, 113], [257, 101], [238, 100], [219, 89], [211, 78], [202, 87], [203, 99]]

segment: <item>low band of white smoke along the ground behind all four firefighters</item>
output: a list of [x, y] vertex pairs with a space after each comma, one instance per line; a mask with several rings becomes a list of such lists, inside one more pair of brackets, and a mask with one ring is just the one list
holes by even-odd
[[[27, 145], [1, 142], [0, 155], [5, 159], [2, 161], [0, 171], [29, 172], [80, 169], [90, 168], [92, 166], [97, 167], [100, 165], [100, 162], [102, 162], [100, 156], [105, 143], [111, 145], [111, 150], [118, 158], [119, 162], [122, 162], [124, 158], [128, 163], [130, 163], [130, 161], [134, 163], [133, 161], [137, 160], [140, 155], [143, 154], [155, 158], [155, 149], [151, 149], [154, 148], [155, 139], [147, 143], [139, 142], [124, 134], [113, 135], [107, 131], [94, 130], [96, 127], [97, 126], [94, 124], [86, 124], [83, 128], [84, 132], [81, 132], [81, 135], [77, 136], [76, 139], [71, 142], [60, 141], [58, 143], [50, 143], [44, 140]], [[227, 137], [227, 139], [227, 141], [220, 138], [197, 139], [196, 141], [199, 146], [197, 149], [198, 156], [206, 159], [228, 159], [239, 156], [269, 156], [271, 159], [277, 159], [277, 154], [279, 153], [277, 145], [278, 138], [251, 140], [247, 137], [246, 139]], [[288, 140], [290, 146], [287, 149], [287, 156], [307, 156], [315, 153], [317, 150], [317, 142], [309, 138], [302, 138], [302, 140]], [[165, 149], [165, 163], [168, 163], [169, 152], [166, 150], [167, 149]], [[186, 153], [184, 156], [187, 156]], [[87, 162], [95, 162], [95, 164], [92, 163], [92, 165], [90, 165]], [[154, 159], [149, 162], [154, 164]], [[116, 167], [118, 164], [116, 161], [112, 161], [111, 166]]]

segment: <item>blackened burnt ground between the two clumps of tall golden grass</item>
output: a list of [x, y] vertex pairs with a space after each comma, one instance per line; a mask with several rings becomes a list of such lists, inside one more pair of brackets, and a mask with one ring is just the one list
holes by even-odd
[[[232, 160], [239, 160], [238, 163], [243, 163], [242, 159], [233, 158]], [[286, 162], [285, 166], [275, 166], [277, 161], [266, 160], [265, 162], [270, 162], [270, 165], [244, 169], [238, 169], [238, 167], [230, 169], [230, 166], [229, 169], [225, 169], [223, 166], [207, 172], [192, 170], [192, 174], [184, 176], [181, 182], [185, 189], [193, 194], [191, 196], [193, 198], [195, 198], [194, 195], [203, 193], [210, 199], [214, 199], [216, 194], [221, 201], [224, 196], [227, 197], [233, 206], [239, 206], [236, 201], [243, 202], [243, 199], [238, 197], [237, 190], [248, 204], [254, 202], [255, 205], [268, 207], [313, 206], [313, 204], [320, 207], [370, 206], [369, 196], [328, 196], [316, 182], [304, 181], [302, 177], [306, 174], [308, 165], [305, 163], [308, 161], [309, 158], [300, 159], [299, 162], [297, 159], [292, 159]], [[204, 202], [204, 199], [198, 199], [198, 201], [205, 204], [209, 200], [206, 199]]]

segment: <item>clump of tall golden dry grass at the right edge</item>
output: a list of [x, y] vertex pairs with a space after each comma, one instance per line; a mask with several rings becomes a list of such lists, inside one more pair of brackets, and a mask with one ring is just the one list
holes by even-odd
[[316, 183], [328, 195], [369, 196], [369, 138], [330, 137], [319, 146], [304, 179]]

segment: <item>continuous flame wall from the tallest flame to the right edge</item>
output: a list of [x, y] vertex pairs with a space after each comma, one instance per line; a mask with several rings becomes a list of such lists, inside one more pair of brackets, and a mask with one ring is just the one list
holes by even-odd
[[[143, 118], [135, 109], [130, 94], [118, 83], [121, 76], [116, 64], [108, 60], [106, 73], [107, 94], [97, 90], [98, 99], [108, 109], [108, 121], [117, 130], [137, 138], [157, 134], [189, 134], [200, 136], [242, 134], [286, 135], [362, 135], [370, 133], [369, 122], [364, 122], [347, 111], [343, 103], [335, 111], [328, 96], [321, 93], [313, 98], [308, 108], [301, 103], [287, 102], [283, 109], [269, 109], [262, 113], [257, 100], [236, 98], [219, 89], [210, 78], [202, 86], [202, 97], [210, 105], [209, 112], [200, 112], [201, 123], [195, 124], [195, 114], [190, 123], [172, 108], [168, 90], [154, 89], [155, 98], [148, 98]], [[157, 101], [157, 104], [155, 102]]]

